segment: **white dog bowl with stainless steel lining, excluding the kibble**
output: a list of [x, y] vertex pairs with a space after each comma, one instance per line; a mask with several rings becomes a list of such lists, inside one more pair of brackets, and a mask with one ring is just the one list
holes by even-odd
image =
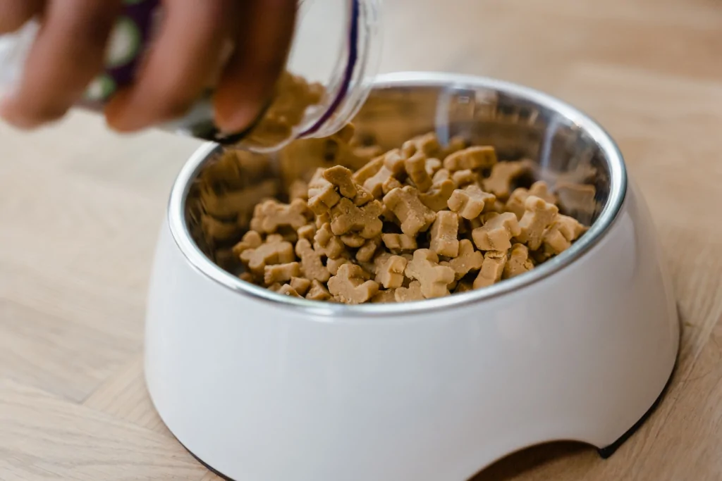
[[[175, 182], [149, 293], [145, 369], [186, 448], [248, 481], [463, 481], [547, 441], [608, 456], [664, 390], [679, 324], [648, 209], [593, 120], [490, 79], [394, 74], [356, 120], [382, 146], [427, 131], [536, 162], [591, 229], [489, 288], [347, 306], [252, 286], [209, 260], [186, 199], [217, 146]], [[583, 189], [582, 189], [583, 190]], [[562, 205], [562, 211], [564, 211]]]

